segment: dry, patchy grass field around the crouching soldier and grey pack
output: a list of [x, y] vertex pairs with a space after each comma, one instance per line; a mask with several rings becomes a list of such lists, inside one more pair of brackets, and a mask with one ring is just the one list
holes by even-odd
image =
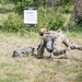
[[[8, 14], [0, 12], [0, 23]], [[70, 30], [67, 35], [72, 43], [82, 44], [81, 26]], [[0, 31], [0, 82], [82, 82], [82, 51], [70, 51], [69, 59], [63, 55], [48, 59], [49, 54], [45, 50], [44, 58], [38, 59], [35, 55], [39, 42], [36, 33], [30, 37], [28, 34], [21, 36]], [[12, 57], [14, 49], [28, 46], [35, 47], [34, 56]]]

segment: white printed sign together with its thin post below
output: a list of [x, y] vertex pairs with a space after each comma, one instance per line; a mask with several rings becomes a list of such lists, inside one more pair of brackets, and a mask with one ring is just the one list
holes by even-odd
[[24, 25], [30, 27], [30, 35], [32, 27], [37, 26], [37, 9], [36, 8], [24, 8]]

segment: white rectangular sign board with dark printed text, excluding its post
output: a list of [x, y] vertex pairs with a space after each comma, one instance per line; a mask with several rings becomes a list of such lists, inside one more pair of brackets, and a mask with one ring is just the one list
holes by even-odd
[[32, 10], [32, 9], [24, 10], [24, 24], [36, 26], [36, 24], [37, 24], [37, 10]]

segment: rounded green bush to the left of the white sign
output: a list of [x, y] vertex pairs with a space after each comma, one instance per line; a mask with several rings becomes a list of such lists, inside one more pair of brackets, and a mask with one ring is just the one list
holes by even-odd
[[8, 32], [22, 32], [24, 31], [23, 20], [19, 14], [10, 14], [3, 22], [3, 28]]

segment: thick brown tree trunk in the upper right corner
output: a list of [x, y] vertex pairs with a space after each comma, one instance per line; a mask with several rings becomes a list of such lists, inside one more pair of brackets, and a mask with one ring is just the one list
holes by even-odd
[[74, 9], [68, 21], [66, 28], [73, 26], [74, 24], [82, 24], [82, 0], [73, 0]]

